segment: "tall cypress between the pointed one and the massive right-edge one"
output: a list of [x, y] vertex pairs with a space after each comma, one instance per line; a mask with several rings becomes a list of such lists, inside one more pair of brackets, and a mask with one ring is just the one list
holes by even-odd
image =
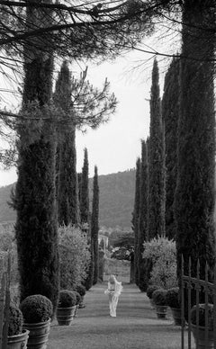
[[177, 125], [179, 118], [179, 59], [173, 58], [165, 76], [162, 117], [166, 148], [166, 237], [175, 238], [174, 199], [177, 178]]

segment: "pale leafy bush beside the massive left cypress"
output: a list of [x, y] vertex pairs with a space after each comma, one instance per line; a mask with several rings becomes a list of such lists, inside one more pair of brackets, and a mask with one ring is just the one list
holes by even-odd
[[70, 290], [85, 280], [90, 263], [87, 237], [81, 229], [71, 225], [58, 228], [60, 252], [60, 286]]

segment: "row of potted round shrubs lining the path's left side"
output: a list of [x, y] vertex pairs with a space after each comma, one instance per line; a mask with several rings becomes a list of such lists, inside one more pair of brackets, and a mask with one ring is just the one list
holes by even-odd
[[[76, 285], [73, 291], [59, 291], [56, 313], [58, 325], [71, 324], [73, 318], [76, 317], [77, 308], [84, 307], [84, 296], [85, 287], [83, 285]], [[52, 303], [47, 297], [40, 294], [27, 297], [21, 302], [19, 308], [11, 304], [8, 321], [8, 349], [46, 348], [51, 318], [53, 318]], [[18, 342], [19, 345], [17, 345]]]

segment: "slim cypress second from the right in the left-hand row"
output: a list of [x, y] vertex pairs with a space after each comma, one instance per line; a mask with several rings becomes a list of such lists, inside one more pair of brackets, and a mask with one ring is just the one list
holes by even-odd
[[81, 224], [89, 223], [89, 191], [88, 191], [88, 154], [84, 149], [84, 165], [80, 183], [80, 221]]

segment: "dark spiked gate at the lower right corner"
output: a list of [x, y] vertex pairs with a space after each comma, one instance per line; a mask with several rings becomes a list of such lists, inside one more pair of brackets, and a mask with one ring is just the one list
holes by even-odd
[[[209, 282], [209, 267], [205, 264], [204, 280], [200, 278], [200, 263], [196, 265], [196, 275], [191, 273], [192, 263], [189, 259], [188, 275], [184, 274], [184, 260], [182, 258], [181, 274], [181, 317], [182, 336], [181, 348], [184, 349], [187, 332], [188, 349], [216, 349], [216, 267], [214, 283]], [[200, 311], [200, 308], [201, 311]], [[191, 312], [193, 310], [193, 315]], [[200, 325], [200, 326], [199, 326]], [[193, 341], [194, 338], [194, 341]]]

